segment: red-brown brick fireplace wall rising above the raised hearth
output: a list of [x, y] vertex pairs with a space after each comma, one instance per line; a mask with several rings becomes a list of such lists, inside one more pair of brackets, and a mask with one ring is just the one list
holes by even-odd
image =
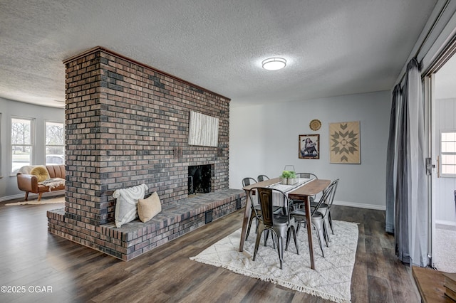
[[[138, 184], [172, 206], [190, 165], [212, 164], [212, 191], [228, 188], [228, 98], [104, 48], [64, 63], [66, 218], [111, 222], [113, 191]], [[191, 110], [219, 118], [218, 147], [187, 143]]]

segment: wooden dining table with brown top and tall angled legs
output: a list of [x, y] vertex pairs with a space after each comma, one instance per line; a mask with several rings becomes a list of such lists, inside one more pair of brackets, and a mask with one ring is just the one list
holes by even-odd
[[[244, 242], [245, 236], [247, 233], [247, 226], [249, 225], [249, 218], [250, 213], [252, 211], [252, 201], [250, 200], [250, 190], [255, 187], [268, 187], [280, 182], [279, 178], [269, 179], [265, 181], [261, 181], [255, 184], [251, 184], [249, 186], [244, 186], [244, 191], [247, 193], [246, 205], [244, 210], [244, 218], [242, 220], [242, 232], [241, 232], [241, 240], [239, 243], [239, 251], [242, 252], [244, 250]], [[310, 182], [307, 182], [303, 186], [299, 186], [298, 188], [294, 188], [293, 190], [287, 192], [289, 198], [296, 200], [296, 201], [304, 201], [304, 207], [306, 208], [306, 221], [311, 222], [311, 203], [310, 203], [310, 196], [315, 196], [317, 193], [323, 191], [328, 185], [331, 184], [331, 180], [323, 180], [323, 179], [313, 179]], [[314, 262], [314, 243], [312, 242], [312, 228], [307, 229], [307, 238], [309, 240], [309, 255], [311, 260], [311, 268], [315, 270], [315, 262]]]

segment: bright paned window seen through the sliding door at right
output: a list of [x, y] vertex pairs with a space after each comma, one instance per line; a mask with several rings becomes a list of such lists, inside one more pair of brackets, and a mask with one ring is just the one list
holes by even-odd
[[456, 176], [456, 130], [440, 134], [440, 171], [442, 176]]

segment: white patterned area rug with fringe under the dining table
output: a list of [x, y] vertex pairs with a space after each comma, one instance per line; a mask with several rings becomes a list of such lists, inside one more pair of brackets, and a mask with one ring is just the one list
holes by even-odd
[[[356, 248], [358, 246], [358, 225], [344, 221], [333, 220], [334, 233], [330, 235], [331, 243], [322, 257], [318, 240], [314, 236], [314, 260], [316, 270], [311, 270], [307, 231], [299, 230], [296, 254], [293, 240], [288, 251], [284, 251], [283, 270], [280, 269], [279, 255], [272, 248], [269, 238], [265, 247], [264, 238], [258, 248], [257, 258], [252, 261], [255, 248], [254, 224], [249, 238], [244, 244], [244, 252], [239, 252], [241, 229], [219, 240], [202, 251], [191, 260], [224, 267], [242, 275], [254, 277], [297, 290], [313, 294], [333, 302], [351, 302], [351, 275], [355, 265]], [[315, 234], [315, 233], [314, 233]]]

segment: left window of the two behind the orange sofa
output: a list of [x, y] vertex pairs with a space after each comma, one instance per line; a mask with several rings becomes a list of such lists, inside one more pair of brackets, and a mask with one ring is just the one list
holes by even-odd
[[33, 151], [33, 119], [11, 118], [11, 173], [31, 165]]

